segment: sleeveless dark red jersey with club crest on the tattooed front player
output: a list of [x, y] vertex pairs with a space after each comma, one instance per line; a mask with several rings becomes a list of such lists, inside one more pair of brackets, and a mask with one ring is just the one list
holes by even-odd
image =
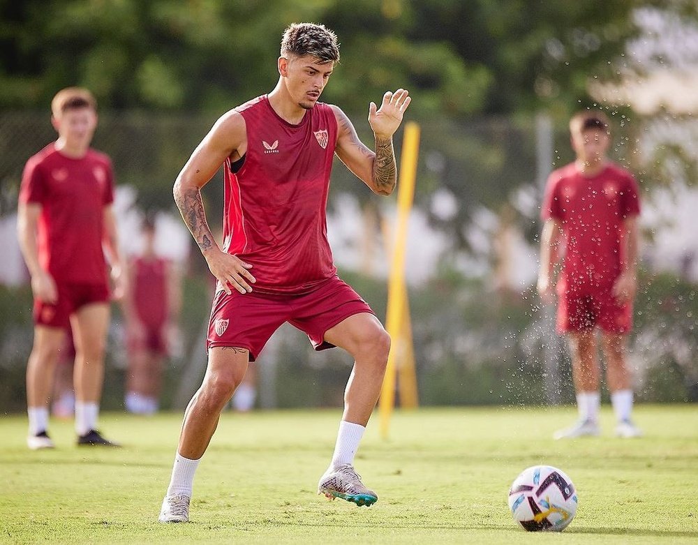
[[237, 173], [225, 163], [223, 249], [253, 264], [253, 290], [308, 292], [336, 274], [325, 214], [334, 112], [316, 103], [292, 125], [267, 96], [236, 110], [245, 119], [247, 151]]

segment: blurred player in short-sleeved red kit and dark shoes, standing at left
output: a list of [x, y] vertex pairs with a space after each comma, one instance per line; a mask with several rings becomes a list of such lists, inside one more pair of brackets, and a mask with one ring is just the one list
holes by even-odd
[[58, 139], [27, 161], [17, 233], [34, 293], [34, 345], [27, 364], [30, 449], [54, 447], [48, 404], [68, 325], [75, 344], [75, 431], [78, 445], [115, 446], [97, 431], [110, 313], [122, 286], [112, 211], [110, 159], [90, 148], [97, 104], [87, 89], [63, 89], [51, 103]]

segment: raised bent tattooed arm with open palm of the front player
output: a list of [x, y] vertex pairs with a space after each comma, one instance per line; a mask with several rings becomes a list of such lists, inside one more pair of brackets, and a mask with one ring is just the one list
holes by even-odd
[[379, 195], [390, 195], [397, 181], [397, 166], [392, 135], [402, 122], [403, 113], [412, 100], [408, 92], [398, 89], [383, 96], [380, 109], [369, 105], [369, 124], [376, 139], [376, 151], [371, 151], [357, 136], [354, 126], [339, 107], [334, 106], [337, 119], [336, 154], [359, 179]]

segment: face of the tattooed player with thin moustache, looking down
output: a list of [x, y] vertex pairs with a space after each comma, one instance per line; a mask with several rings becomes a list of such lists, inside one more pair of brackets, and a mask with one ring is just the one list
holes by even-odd
[[318, 102], [333, 68], [334, 62], [320, 62], [311, 55], [288, 55], [288, 59], [279, 59], [279, 72], [285, 77], [288, 93], [292, 100], [306, 110], [310, 110]]

